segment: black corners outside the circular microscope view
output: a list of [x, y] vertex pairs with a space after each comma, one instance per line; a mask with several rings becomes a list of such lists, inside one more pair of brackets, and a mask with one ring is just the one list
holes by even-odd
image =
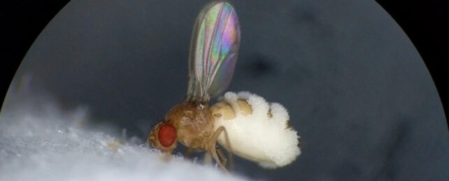
[[[15, 1], [3, 3], [0, 100], [20, 62], [43, 28], [69, 1]], [[448, 1], [377, 0], [406, 32], [420, 53], [436, 84], [446, 118], [449, 113], [449, 11]]]

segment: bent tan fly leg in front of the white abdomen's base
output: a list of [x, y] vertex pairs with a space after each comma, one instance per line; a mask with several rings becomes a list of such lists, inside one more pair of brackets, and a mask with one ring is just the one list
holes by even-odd
[[[224, 132], [224, 137], [226, 139], [226, 147], [227, 147], [228, 155], [229, 155], [228, 156], [229, 157], [229, 162], [232, 163], [231, 143], [229, 143], [229, 138], [228, 138], [226, 129], [224, 129], [224, 127], [222, 127], [222, 126], [218, 127], [218, 129], [213, 133], [211, 139], [208, 141], [208, 145], [206, 145], [206, 148], [208, 148], [207, 149], [208, 152], [211, 152], [211, 155], [212, 155], [213, 159], [215, 159], [215, 162], [217, 162], [218, 166], [220, 166], [220, 168], [222, 168], [222, 170], [224, 172], [229, 173], [229, 171], [227, 171], [227, 169], [224, 167], [224, 164], [222, 164], [222, 161], [218, 158], [217, 150], [216, 150], [216, 147], [215, 147], [215, 145], [217, 144], [218, 136], [220, 136], [221, 132]], [[219, 152], [221, 152], [221, 150]], [[222, 152], [221, 152], [220, 155], [223, 155]], [[223, 155], [223, 157], [224, 157], [224, 155]], [[224, 163], [226, 163], [226, 161], [224, 161]]]

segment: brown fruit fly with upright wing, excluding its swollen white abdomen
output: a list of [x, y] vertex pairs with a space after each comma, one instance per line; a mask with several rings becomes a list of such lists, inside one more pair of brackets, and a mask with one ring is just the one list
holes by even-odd
[[[208, 103], [231, 82], [239, 47], [240, 26], [234, 7], [227, 1], [204, 6], [192, 32], [187, 95], [152, 127], [147, 141], [153, 148], [171, 154], [179, 141], [188, 149], [206, 150], [227, 171], [226, 159], [216, 147], [220, 134], [227, 137], [227, 132], [224, 127], [214, 131]], [[231, 144], [226, 142], [230, 157]]]

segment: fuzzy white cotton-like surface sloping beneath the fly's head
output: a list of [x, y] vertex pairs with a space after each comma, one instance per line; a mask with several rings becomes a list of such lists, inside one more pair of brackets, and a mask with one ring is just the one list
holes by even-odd
[[0, 180], [243, 180], [183, 157], [166, 162], [135, 137], [83, 127], [85, 109], [42, 103], [3, 107]]

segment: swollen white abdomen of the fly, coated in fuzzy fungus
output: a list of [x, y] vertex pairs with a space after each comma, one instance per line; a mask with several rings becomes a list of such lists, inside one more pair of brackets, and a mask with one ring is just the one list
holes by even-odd
[[[252, 113], [243, 116], [238, 110], [238, 99], [250, 104]], [[297, 132], [287, 126], [290, 117], [281, 104], [269, 103], [259, 95], [249, 92], [224, 95], [236, 117], [225, 120], [215, 119], [214, 128], [225, 127], [229, 135], [234, 154], [259, 163], [265, 168], [277, 168], [290, 164], [300, 154]], [[272, 117], [268, 116], [271, 110]], [[224, 135], [220, 135], [219, 143], [225, 145]]]

